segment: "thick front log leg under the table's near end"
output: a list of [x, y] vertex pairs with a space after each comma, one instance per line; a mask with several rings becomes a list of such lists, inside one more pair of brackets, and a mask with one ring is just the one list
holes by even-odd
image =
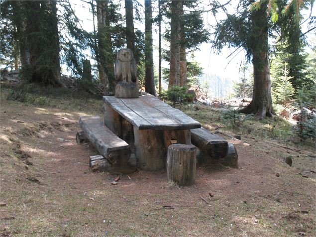
[[134, 139], [139, 168], [151, 171], [163, 169], [165, 149], [162, 131], [134, 127]]

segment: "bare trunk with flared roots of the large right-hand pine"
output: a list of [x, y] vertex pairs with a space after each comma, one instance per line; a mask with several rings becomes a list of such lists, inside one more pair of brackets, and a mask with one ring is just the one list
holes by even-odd
[[257, 120], [274, 114], [271, 98], [271, 81], [268, 46], [267, 6], [262, 4], [260, 9], [250, 14], [253, 35], [252, 64], [253, 64], [253, 96], [251, 103], [241, 113], [254, 114]]

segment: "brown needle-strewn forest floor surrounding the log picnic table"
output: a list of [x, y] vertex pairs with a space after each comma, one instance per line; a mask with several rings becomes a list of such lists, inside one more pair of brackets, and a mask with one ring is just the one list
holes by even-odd
[[[80, 116], [103, 114], [101, 98], [44, 91], [18, 102], [6, 100], [10, 93], [1, 87], [1, 237], [316, 236], [312, 145], [256, 136], [261, 128], [250, 125], [248, 132], [238, 128], [237, 140], [206, 106], [182, 106], [223, 131], [239, 168], [199, 166], [191, 187], [169, 185], [166, 170], [121, 175], [113, 186], [115, 175], [90, 170], [96, 150], [75, 141]], [[268, 123], [249, 124], [269, 129]], [[284, 162], [289, 155], [292, 167]]]

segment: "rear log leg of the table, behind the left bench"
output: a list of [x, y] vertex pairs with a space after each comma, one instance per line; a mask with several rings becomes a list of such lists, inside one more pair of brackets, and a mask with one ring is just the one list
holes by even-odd
[[110, 106], [105, 103], [105, 115], [104, 124], [107, 126], [116, 136], [122, 138], [121, 131], [121, 116], [114, 111]]

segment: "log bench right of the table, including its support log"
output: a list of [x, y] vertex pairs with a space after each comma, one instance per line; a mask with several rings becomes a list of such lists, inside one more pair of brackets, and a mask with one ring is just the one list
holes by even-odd
[[225, 166], [238, 167], [238, 154], [235, 146], [205, 128], [191, 129], [192, 144], [200, 149], [198, 162], [209, 160]]

